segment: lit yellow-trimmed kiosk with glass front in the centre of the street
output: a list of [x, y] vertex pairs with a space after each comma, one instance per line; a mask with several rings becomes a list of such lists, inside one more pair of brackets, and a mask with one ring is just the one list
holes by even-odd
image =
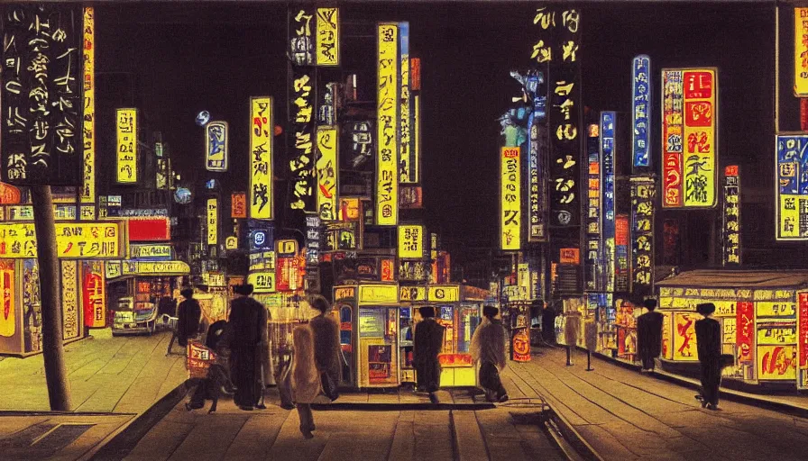
[[438, 355], [441, 386], [477, 384], [470, 345], [482, 319], [483, 296], [464, 285], [359, 284], [335, 286], [334, 315], [340, 326], [341, 385], [353, 388], [414, 384], [413, 339], [418, 308], [435, 307], [445, 328]]

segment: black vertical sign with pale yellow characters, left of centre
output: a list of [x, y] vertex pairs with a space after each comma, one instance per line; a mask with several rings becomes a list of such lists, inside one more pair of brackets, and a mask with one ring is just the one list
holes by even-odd
[[[289, 96], [289, 170], [292, 210], [314, 211], [314, 68], [292, 68]], [[269, 127], [271, 130], [271, 127]]]

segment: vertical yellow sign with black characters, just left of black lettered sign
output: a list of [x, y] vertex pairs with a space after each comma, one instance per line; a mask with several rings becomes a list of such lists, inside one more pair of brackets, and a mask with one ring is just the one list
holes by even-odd
[[250, 190], [249, 210], [253, 220], [271, 220], [272, 188], [272, 98], [250, 98]]

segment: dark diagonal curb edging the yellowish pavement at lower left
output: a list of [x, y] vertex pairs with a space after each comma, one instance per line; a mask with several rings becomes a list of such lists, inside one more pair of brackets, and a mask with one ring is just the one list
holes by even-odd
[[188, 379], [179, 384], [149, 407], [149, 410], [143, 411], [139, 416], [130, 420], [129, 424], [118, 428], [114, 434], [107, 437], [106, 442], [102, 440], [96, 447], [95, 453], [90, 452], [82, 459], [91, 461], [124, 459], [140, 439], [185, 398], [190, 388], [189, 382]]

